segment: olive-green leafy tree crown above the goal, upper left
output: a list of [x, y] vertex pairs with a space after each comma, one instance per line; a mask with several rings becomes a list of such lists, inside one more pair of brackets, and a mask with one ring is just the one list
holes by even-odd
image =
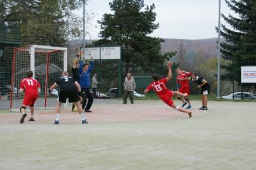
[[[68, 2], [68, 4], [67, 4]], [[63, 45], [77, 26], [68, 24], [74, 19], [72, 11], [81, 6], [80, 0], [4, 0], [0, 18], [20, 25], [23, 45]]]

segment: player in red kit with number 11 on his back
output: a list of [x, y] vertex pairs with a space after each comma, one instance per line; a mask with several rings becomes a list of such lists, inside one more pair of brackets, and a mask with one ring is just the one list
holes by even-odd
[[26, 107], [29, 105], [31, 111], [31, 117], [29, 121], [35, 121], [34, 119], [34, 112], [35, 107], [34, 104], [36, 99], [38, 98], [38, 93], [40, 93], [40, 84], [36, 79], [33, 79], [33, 72], [29, 71], [26, 73], [26, 78], [22, 79], [20, 82], [20, 93], [22, 91], [25, 92], [24, 100], [22, 106], [20, 107], [20, 112], [22, 113], [22, 117], [20, 119], [20, 123], [23, 123], [27, 114], [26, 114]]

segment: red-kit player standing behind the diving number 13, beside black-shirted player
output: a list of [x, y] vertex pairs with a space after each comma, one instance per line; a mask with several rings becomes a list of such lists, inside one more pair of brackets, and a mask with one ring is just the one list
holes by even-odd
[[[188, 78], [188, 76], [190, 76], [191, 73], [182, 71], [182, 69], [180, 67], [178, 67], [176, 70], [178, 73], [177, 82], [180, 84], [179, 92], [187, 93], [189, 96], [189, 94], [190, 94], [189, 80], [190, 79]], [[189, 97], [184, 97], [184, 99], [183, 99], [181, 96], [178, 96], [177, 98], [183, 102], [181, 107], [184, 107], [188, 102], [188, 107], [186, 107], [186, 109], [191, 108], [191, 103], [190, 103]], [[186, 100], [186, 102], [185, 102], [185, 100]]]

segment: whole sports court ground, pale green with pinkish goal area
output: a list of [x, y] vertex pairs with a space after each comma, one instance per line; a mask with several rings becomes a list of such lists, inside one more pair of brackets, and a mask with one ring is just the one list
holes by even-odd
[[[177, 101], [176, 101], [177, 103]], [[193, 117], [159, 100], [36, 111], [36, 121], [0, 112], [0, 169], [256, 169], [255, 102], [209, 102]]]

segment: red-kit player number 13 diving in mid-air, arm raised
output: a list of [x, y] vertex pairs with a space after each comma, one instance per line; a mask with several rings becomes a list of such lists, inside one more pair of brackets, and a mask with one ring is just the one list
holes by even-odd
[[163, 100], [164, 103], [167, 105], [170, 105], [173, 109], [177, 109], [177, 111], [180, 112], [186, 112], [191, 118], [192, 112], [188, 111], [182, 107], [179, 107], [179, 105], [173, 104], [172, 96], [181, 96], [181, 97], [187, 97], [188, 95], [186, 93], [180, 93], [179, 91], [170, 91], [170, 89], [166, 88], [166, 82], [170, 81], [172, 78], [172, 63], [168, 63], [168, 76], [164, 79], [160, 79], [157, 74], [152, 75], [152, 79], [154, 82], [152, 82], [147, 89], [144, 90], [144, 93], [148, 93], [150, 89], [154, 89], [154, 91], [157, 93], [158, 97]]

